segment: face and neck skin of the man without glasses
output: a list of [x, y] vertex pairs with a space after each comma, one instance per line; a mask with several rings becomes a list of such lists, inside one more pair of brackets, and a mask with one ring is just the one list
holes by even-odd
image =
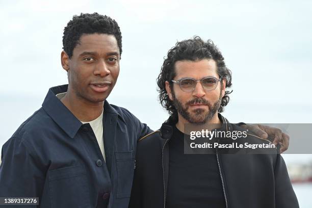
[[100, 116], [103, 101], [117, 82], [119, 61], [117, 40], [108, 34], [82, 35], [70, 59], [62, 51], [61, 63], [68, 72], [68, 90], [61, 101], [79, 120], [87, 122]]

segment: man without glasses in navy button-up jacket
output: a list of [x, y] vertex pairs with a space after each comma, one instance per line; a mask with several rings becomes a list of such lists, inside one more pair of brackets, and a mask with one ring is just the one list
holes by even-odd
[[121, 38], [108, 16], [68, 22], [61, 53], [68, 85], [50, 88], [42, 108], [3, 145], [0, 197], [39, 197], [40, 207], [127, 207], [137, 141], [151, 131], [107, 101]]

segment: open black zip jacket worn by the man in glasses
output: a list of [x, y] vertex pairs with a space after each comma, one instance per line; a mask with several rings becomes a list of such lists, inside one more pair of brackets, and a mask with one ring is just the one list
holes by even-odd
[[[238, 125], [229, 124], [224, 117], [222, 119], [224, 128], [244, 131]], [[172, 136], [172, 125], [175, 123], [169, 118], [159, 131], [139, 140], [129, 207], [166, 207], [168, 141]], [[270, 143], [252, 134], [245, 141]], [[216, 157], [227, 208], [299, 207], [287, 168], [277, 151], [270, 154], [221, 154], [217, 151]]]

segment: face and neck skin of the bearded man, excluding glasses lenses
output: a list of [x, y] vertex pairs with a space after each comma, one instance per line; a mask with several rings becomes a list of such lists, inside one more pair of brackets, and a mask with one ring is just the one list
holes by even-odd
[[[174, 80], [191, 77], [195, 80], [200, 80], [206, 76], [214, 76], [219, 79], [217, 73], [216, 62], [213, 59], [203, 59], [200, 61], [177, 61], [174, 65], [176, 76]], [[179, 85], [173, 85], [173, 91], [170, 89], [169, 82], [166, 82], [166, 91], [171, 100], [178, 100], [182, 107], [187, 111], [191, 119], [181, 115], [178, 112], [177, 128], [184, 132], [184, 124], [186, 123], [221, 123], [218, 118], [217, 112], [211, 116], [210, 120], [205, 120], [209, 115], [215, 103], [218, 103], [220, 96], [223, 97], [225, 93], [225, 81], [222, 80], [222, 85], [218, 83], [215, 90], [205, 91], [200, 83], [197, 83], [194, 91], [184, 92], [180, 89]], [[196, 103], [196, 100], [203, 100], [201, 103]], [[194, 103], [195, 102], [195, 103]], [[194, 105], [195, 104], [195, 105]], [[204, 105], [197, 105], [204, 104]], [[220, 104], [219, 104], [220, 105]]]

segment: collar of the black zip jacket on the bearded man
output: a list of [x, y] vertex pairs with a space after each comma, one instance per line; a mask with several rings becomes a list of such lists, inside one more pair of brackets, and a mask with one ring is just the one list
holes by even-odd
[[[220, 113], [218, 113], [218, 117], [222, 122], [222, 127], [221, 129], [226, 129], [226, 131], [231, 131], [233, 129], [232, 124], [229, 123], [229, 121], [222, 116]], [[176, 124], [175, 119], [170, 116], [163, 124], [162, 127], [160, 128], [160, 136], [163, 139], [170, 139], [173, 134], [173, 126]]]

